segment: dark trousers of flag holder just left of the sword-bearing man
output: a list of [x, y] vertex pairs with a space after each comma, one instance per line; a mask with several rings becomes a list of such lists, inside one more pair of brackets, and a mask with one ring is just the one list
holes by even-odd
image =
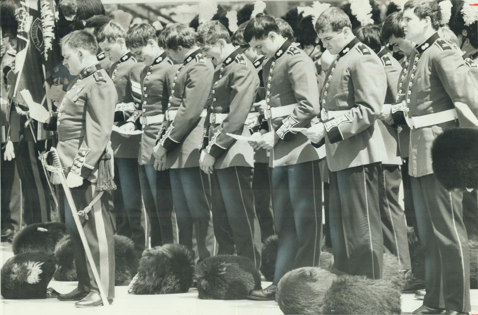
[[15, 162], [22, 180], [22, 192], [25, 199], [23, 217], [26, 224], [50, 221], [50, 192], [38, 160], [38, 152], [32, 141], [13, 142]]

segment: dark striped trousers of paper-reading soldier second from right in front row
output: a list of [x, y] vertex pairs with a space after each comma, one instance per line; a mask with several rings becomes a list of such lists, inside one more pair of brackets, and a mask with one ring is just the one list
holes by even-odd
[[382, 277], [380, 163], [330, 172], [330, 234], [335, 267], [348, 274]]

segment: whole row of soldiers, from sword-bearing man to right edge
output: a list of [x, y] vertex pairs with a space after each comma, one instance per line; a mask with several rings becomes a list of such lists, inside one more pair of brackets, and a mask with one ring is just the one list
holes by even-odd
[[[114, 229], [109, 194], [96, 187], [104, 176], [100, 161], [114, 157], [126, 223], [140, 250], [143, 200], [151, 246], [173, 241], [174, 205], [178, 241], [191, 251], [194, 243], [200, 260], [214, 254], [206, 246], [212, 213], [218, 254], [246, 256], [259, 268], [261, 232], [273, 233], [272, 192], [279, 236], [274, 280], [250, 292], [252, 299], [271, 300], [286, 272], [318, 264], [324, 180], [336, 268], [380, 279], [388, 250], [404, 271], [411, 269], [398, 205], [399, 165], [409, 157], [407, 181], [426, 253], [424, 306], [414, 314], [468, 312], [463, 196], [436, 181], [430, 149], [444, 129], [478, 126], [477, 66], [440, 37], [440, 19], [435, 1], [411, 0], [403, 18], [391, 15], [381, 30], [352, 32], [342, 10], [327, 9], [315, 23], [334, 56], [325, 78], [283, 36], [278, 20], [264, 14], [232, 41], [218, 21], [197, 32], [175, 23], [159, 38], [147, 24], [125, 34], [114, 21], [96, 39], [86, 31], [66, 35], [64, 64], [77, 77], [44, 127], [58, 132], [76, 207], [93, 212], [85, 215], [84, 230], [108, 298], [114, 297]], [[114, 61], [108, 72], [98, 64], [97, 43]], [[401, 49], [403, 67], [384, 43], [408, 44]], [[118, 132], [111, 133], [113, 123]], [[78, 288], [59, 299], [100, 305], [70, 205], [65, 208], [81, 276]]]

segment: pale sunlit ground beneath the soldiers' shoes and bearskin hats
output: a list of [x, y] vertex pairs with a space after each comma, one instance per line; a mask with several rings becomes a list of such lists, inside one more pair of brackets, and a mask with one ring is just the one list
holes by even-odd
[[[11, 244], [1, 243], [0, 264], [13, 256]], [[262, 282], [262, 287], [270, 285], [270, 282]], [[59, 293], [67, 293], [76, 287], [76, 282], [50, 282]], [[197, 290], [191, 288], [188, 293], [170, 295], [130, 295], [126, 286], [115, 288], [116, 297], [110, 306], [75, 308], [75, 302], [60, 302], [56, 299], [38, 300], [7, 300], [0, 299], [0, 313], [2, 315], [70, 315], [70, 314], [164, 314], [164, 315], [281, 315], [279, 306], [274, 301], [217, 301], [200, 300], [197, 298]], [[478, 290], [471, 292], [471, 314], [478, 314]], [[416, 300], [413, 294], [402, 295], [402, 312], [411, 313], [422, 305], [421, 300]]]

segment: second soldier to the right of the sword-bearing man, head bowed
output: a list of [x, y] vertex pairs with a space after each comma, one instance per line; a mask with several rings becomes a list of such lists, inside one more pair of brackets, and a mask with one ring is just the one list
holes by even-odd
[[[143, 63], [130, 71], [129, 83], [139, 108], [123, 126], [127, 131], [142, 129], [140, 163], [141, 194], [151, 222], [151, 246], [173, 243], [173, 195], [169, 171], [157, 171], [158, 163], [152, 154], [158, 134], [164, 131], [164, 114], [168, 104], [168, 71], [174, 71], [173, 61], [158, 46], [156, 30], [149, 24], [130, 28], [126, 36], [128, 47]], [[176, 68], [179, 66], [176, 66]], [[156, 168], [155, 168], [156, 167]]]

